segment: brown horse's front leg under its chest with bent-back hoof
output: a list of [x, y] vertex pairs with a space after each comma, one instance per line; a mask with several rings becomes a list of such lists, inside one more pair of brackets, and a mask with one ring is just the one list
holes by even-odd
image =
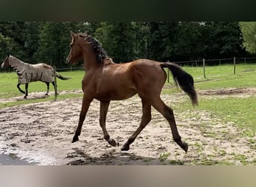
[[111, 144], [113, 147], [119, 146], [119, 143], [116, 142], [114, 139], [110, 138], [109, 132], [106, 130], [106, 114], [109, 109], [109, 102], [106, 101], [100, 102], [100, 126], [103, 129], [103, 136], [106, 141], [108, 141], [109, 144]]

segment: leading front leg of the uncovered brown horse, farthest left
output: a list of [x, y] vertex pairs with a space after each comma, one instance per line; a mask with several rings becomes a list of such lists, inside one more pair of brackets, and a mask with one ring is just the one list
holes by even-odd
[[87, 114], [88, 108], [90, 106], [90, 103], [92, 102], [93, 99], [88, 99], [85, 95], [82, 99], [82, 108], [80, 111], [80, 116], [79, 116], [79, 124], [76, 128], [76, 133], [73, 136], [73, 140], [72, 143], [79, 141], [79, 135], [81, 134], [81, 130], [82, 130], [82, 124], [84, 123], [85, 120], [85, 116]]

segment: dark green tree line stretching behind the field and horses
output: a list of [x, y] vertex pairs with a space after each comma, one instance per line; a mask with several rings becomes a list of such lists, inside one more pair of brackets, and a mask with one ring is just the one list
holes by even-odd
[[68, 67], [70, 31], [87, 32], [116, 63], [248, 56], [246, 22], [0, 22], [0, 60]]

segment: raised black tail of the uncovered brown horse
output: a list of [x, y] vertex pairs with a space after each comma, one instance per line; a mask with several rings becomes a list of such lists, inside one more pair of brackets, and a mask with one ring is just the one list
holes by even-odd
[[195, 91], [193, 77], [182, 70], [177, 64], [171, 62], [162, 63], [161, 67], [168, 67], [168, 69], [171, 70], [175, 85], [177, 86], [178, 83], [180, 88], [188, 94], [192, 105], [198, 105], [198, 94]]

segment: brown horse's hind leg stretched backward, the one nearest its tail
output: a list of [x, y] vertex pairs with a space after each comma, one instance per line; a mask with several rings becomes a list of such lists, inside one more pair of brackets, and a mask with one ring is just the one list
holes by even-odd
[[180, 137], [179, 132], [177, 130], [173, 110], [171, 108], [169, 108], [167, 105], [165, 105], [165, 103], [162, 102], [162, 99], [160, 97], [154, 98], [152, 105], [153, 105], [154, 108], [156, 108], [157, 111], [159, 111], [165, 117], [166, 120], [168, 120], [168, 123], [171, 126], [171, 133], [172, 133], [172, 137], [174, 138], [174, 141], [183, 150], [185, 150], [187, 152], [188, 144], [181, 141], [181, 137]]

